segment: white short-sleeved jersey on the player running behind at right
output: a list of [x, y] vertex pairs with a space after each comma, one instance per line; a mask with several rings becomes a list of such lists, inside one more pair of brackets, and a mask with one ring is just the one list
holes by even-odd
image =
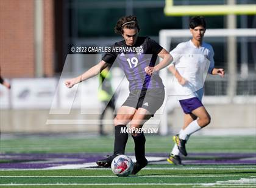
[[212, 45], [203, 42], [201, 47], [197, 48], [190, 40], [178, 44], [170, 54], [174, 59], [171, 65], [187, 80], [182, 86], [174, 79], [177, 99], [197, 97], [202, 100], [207, 72], [211, 73], [215, 64]]

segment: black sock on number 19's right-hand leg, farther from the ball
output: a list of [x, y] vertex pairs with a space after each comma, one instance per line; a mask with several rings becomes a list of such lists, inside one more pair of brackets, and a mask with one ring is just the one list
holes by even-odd
[[145, 158], [145, 143], [146, 143], [146, 138], [144, 136], [144, 133], [140, 133], [140, 135], [133, 136], [132, 138], [134, 140], [134, 151], [135, 151], [135, 156], [136, 156], [136, 161], [138, 163], [144, 163], [146, 161]]

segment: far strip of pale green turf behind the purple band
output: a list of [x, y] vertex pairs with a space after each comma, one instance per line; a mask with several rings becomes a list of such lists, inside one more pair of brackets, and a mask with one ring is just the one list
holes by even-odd
[[[78, 138], [77, 138], [78, 137]], [[113, 136], [15, 136], [2, 138], [1, 152], [112, 152]], [[146, 135], [146, 152], [166, 152], [174, 145], [172, 136]], [[188, 152], [255, 152], [255, 136], [191, 136]], [[133, 152], [133, 140], [129, 136], [126, 152]]]

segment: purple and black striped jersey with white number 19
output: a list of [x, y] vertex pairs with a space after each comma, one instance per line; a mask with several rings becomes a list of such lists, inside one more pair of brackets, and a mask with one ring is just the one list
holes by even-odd
[[108, 64], [117, 63], [129, 81], [129, 90], [163, 88], [158, 73], [147, 75], [144, 69], [154, 67], [157, 54], [163, 49], [149, 37], [138, 37], [135, 45], [128, 46], [125, 41], [116, 42], [112, 51], [105, 53], [102, 60]]

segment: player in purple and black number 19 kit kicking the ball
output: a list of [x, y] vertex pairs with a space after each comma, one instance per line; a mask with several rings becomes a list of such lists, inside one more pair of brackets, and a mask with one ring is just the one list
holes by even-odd
[[[115, 156], [124, 154], [128, 133], [121, 133], [121, 130], [127, 129], [126, 125], [128, 123], [130, 123], [130, 130], [133, 127], [141, 128], [162, 106], [165, 98], [165, 89], [157, 72], [172, 61], [172, 56], [157, 42], [149, 37], [138, 36], [140, 27], [136, 16], [120, 18], [116, 23], [115, 32], [122, 35], [124, 40], [116, 42], [113, 48], [128, 47], [132, 49], [138, 47], [141, 49], [140, 52], [116, 52], [112, 50], [112, 52], [105, 53], [99, 64], [82, 75], [65, 82], [66, 87], [73, 87], [74, 84], [98, 75], [108, 64], [113, 64], [115, 61], [123, 69], [129, 81], [129, 96], [123, 106], [118, 109], [114, 119], [115, 142], [113, 155], [97, 161], [99, 166], [104, 167], [111, 166]], [[155, 65], [157, 56], [160, 56], [162, 61]], [[143, 132], [132, 132], [132, 138], [135, 143], [137, 160], [132, 174], [136, 174], [148, 164], [145, 158], [146, 138]]]

